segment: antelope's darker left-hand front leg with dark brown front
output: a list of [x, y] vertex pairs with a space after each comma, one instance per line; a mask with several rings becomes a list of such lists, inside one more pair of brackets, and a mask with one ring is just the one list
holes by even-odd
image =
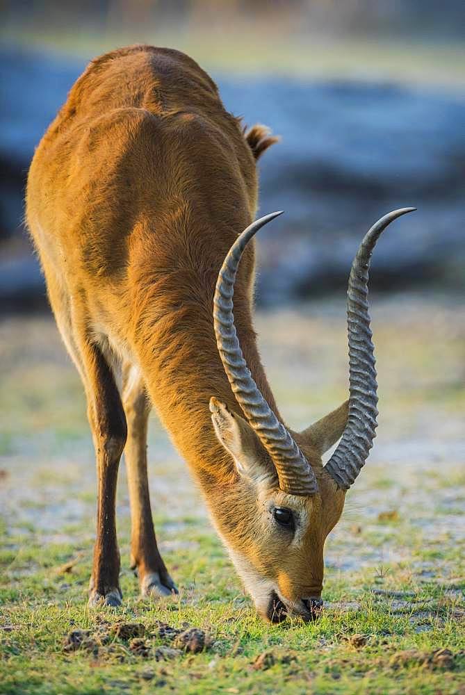
[[117, 546], [115, 498], [127, 426], [111, 368], [97, 345], [83, 351], [88, 417], [97, 456], [97, 538], [89, 587], [89, 605], [121, 605], [120, 552]]

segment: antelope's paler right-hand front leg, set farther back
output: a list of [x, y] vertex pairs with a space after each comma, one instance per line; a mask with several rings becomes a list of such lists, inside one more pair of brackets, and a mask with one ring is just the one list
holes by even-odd
[[147, 422], [150, 403], [137, 368], [123, 374], [128, 436], [124, 459], [131, 503], [131, 566], [137, 568], [142, 596], [177, 594], [156, 544], [147, 479]]

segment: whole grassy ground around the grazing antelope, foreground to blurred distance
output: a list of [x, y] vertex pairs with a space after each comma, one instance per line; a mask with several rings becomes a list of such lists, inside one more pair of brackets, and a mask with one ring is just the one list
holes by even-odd
[[[343, 312], [341, 301], [259, 316], [295, 427], [345, 397]], [[95, 473], [81, 386], [49, 318], [1, 322], [1, 694], [465, 692], [465, 309], [450, 297], [375, 297], [373, 316], [375, 449], [328, 539], [325, 614], [282, 626], [243, 596], [155, 418], [154, 516], [179, 598], [138, 600], [123, 467], [124, 607], [85, 607]], [[125, 635], [121, 623], [143, 628]], [[184, 653], [162, 623], [201, 628], [209, 644]]]

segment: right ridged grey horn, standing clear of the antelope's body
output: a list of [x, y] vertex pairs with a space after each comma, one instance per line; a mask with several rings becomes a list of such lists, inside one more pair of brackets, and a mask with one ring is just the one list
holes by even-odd
[[377, 240], [388, 224], [416, 208], [400, 208], [384, 215], [367, 232], [352, 263], [348, 284], [349, 416], [341, 441], [325, 470], [339, 487], [348, 490], [359, 475], [373, 446], [377, 427], [377, 382], [368, 313], [368, 269]]

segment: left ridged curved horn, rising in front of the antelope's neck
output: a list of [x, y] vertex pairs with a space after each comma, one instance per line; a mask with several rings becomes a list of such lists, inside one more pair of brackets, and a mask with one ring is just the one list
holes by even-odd
[[240, 350], [234, 326], [234, 282], [240, 257], [252, 236], [278, 215], [282, 215], [282, 211], [256, 220], [238, 236], [231, 246], [216, 283], [213, 321], [216, 344], [229, 383], [249, 424], [254, 428], [275, 464], [279, 487], [291, 495], [304, 496], [317, 491], [315, 475], [291, 434], [279, 422], [254, 382]]

